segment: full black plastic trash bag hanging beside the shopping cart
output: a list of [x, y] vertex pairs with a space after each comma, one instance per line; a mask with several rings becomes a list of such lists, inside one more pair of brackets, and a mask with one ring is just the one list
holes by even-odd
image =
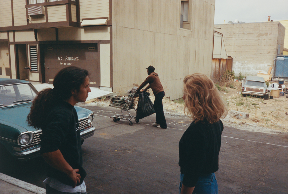
[[143, 91], [139, 94], [138, 105], [136, 110], [136, 120], [155, 113], [153, 102], [149, 98], [150, 93]]

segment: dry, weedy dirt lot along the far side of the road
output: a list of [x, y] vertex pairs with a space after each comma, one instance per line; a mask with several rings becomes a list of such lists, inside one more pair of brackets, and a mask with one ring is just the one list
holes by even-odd
[[[288, 82], [284, 82], [285, 85]], [[249, 113], [247, 119], [237, 119], [228, 114], [222, 121], [224, 125], [242, 130], [259, 131], [264, 133], [288, 133], [288, 98], [280, 96], [264, 100], [260, 97], [242, 97], [240, 89], [241, 82], [234, 82], [235, 88], [227, 87], [227, 91], [221, 91], [223, 98], [228, 104], [228, 113], [231, 110]], [[270, 93], [269, 93], [270, 96]], [[152, 95], [151, 100], [154, 101]], [[109, 98], [88, 102], [89, 106], [109, 106]], [[93, 106], [93, 105], [92, 105]], [[168, 99], [163, 100], [165, 114], [173, 117], [185, 116], [184, 104], [181, 100], [176, 103]], [[286, 114], [287, 113], [287, 114]]]

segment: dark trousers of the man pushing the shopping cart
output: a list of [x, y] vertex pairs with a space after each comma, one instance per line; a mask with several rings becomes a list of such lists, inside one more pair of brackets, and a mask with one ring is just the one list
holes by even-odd
[[163, 102], [162, 99], [165, 96], [165, 92], [159, 92], [158, 94], [155, 95], [155, 100], [153, 104], [153, 108], [156, 113], [156, 123], [160, 124], [160, 127], [166, 128], [167, 123], [166, 119], [164, 116], [164, 111], [163, 111]]

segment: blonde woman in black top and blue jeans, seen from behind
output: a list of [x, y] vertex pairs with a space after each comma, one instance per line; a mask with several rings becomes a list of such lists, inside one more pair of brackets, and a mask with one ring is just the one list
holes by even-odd
[[[194, 119], [179, 142], [180, 193], [218, 193], [218, 170], [226, 103], [213, 81], [204, 74], [186, 76], [184, 112]], [[186, 112], [185, 112], [186, 114]]]

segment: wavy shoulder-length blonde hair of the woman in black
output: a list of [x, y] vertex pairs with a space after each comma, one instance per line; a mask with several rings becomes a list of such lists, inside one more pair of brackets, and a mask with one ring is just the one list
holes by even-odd
[[[186, 76], [184, 82], [184, 113], [195, 120], [208, 123], [217, 122], [227, 115], [227, 104], [213, 81], [204, 74]], [[186, 114], [186, 113], [185, 113]]]

